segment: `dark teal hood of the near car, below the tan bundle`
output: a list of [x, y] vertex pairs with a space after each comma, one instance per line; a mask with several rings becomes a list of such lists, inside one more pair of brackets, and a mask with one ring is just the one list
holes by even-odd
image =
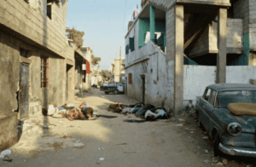
[[255, 133], [256, 130], [256, 117], [241, 115], [236, 116], [232, 114], [227, 108], [223, 109], [225, 112], [228, 112], [229, 116], [233, 118], [233, 121], [241, 124], [241, 131], [246, 133]]

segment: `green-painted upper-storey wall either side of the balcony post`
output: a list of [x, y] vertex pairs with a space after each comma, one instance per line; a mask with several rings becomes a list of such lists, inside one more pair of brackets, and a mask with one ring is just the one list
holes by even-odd
[[[148, 19], [139, 19], [139, 31], [138, 31], [138, 47], [142, 48], [145, 45], [145, 37], [147, 32], [150, 32], [150, 20]], [[155, 32], [163, 33], [163, 46], [164, 52], [166, 47], [166, 20], [155, 20]]]

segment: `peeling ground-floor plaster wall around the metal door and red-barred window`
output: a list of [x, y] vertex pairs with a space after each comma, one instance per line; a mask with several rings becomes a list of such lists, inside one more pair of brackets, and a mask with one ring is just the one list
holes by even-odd
[[[44, 104], [49, 106], [49, 104], [61, 105], [64, 103], [65, 94], [62, 91], [66, 84], [65, 59], [32, 47], [4, 32], [0, 32], [0, 41], [1, 113], [13, 112], [17, 109], [15, 93], [19, 89], [20, 48], [27, 49], [31, 53], [27, 58], [31, 60], [29, 65], [29, 113], [41, 112]], [[41, 55], [49, 57], [49, 89], [46, 91], [41, 88]]]

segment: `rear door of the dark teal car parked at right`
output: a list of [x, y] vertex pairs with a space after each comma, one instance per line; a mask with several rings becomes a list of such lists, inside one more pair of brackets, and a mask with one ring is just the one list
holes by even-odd
[[207, 103], [209, 101], [209, 97], [210, 97], [210, 93], [211, 93], [211, 89], [206, 89], [204, 95], [201, 97], [200, 102], [199, 102], [199, 118], [201, 121], [201, 124], [203, 124], [203, 126], [205, 128], [207, 128]]

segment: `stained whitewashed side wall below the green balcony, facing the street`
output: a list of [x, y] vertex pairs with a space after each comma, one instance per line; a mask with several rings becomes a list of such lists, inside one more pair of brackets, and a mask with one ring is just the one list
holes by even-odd
[[[150, 49], [148, 50], [148, 48]], [[141, 75], [144, 74], [145, 103], [152, 104], [155, 107], [164, 107], [166, 97], [166, 55], [160, 49], [157, 49], [151, 41], [139, 49], [137, 53], [141, 53], [137, 55], [141, 56], [140, 60], [149, 58], [149, 60], [143, 60], [143, 63], [145, 61], [148, 63], [147, 71], [143, 69], [142, 61], [125, 69], [126, 78], [128, 78], [129, 73], [132, 73], [132, 83], [127, 84], [127, 95], [137, 101], [143, 101]]]

